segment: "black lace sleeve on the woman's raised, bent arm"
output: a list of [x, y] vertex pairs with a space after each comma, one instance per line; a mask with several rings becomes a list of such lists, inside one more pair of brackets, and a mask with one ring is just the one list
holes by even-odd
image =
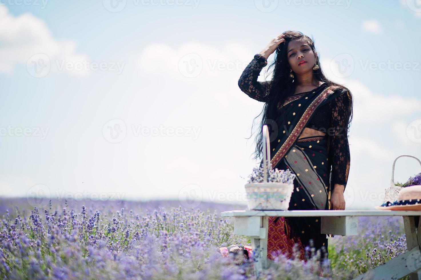
[[254, 56], [253, 60], [245, 67], [238, 86], [241, 91], [257, 101], [269, 101], [269, 89], [271, 81], [259, 82], [257, 77], [260, 75], [261, 69], [267, 65], [267, 60], [263, 56]]

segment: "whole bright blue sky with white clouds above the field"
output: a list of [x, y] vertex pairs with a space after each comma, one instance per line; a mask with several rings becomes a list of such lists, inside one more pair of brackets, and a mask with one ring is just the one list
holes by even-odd
[[[379, 205], [393, 160], [421, 159], [419, 3], [264, 1], [127, 0], [112, 12], [108, 0], [1, 0], [1, 194], [238, 197], [257, 165], [245, 138], [263, 103], [237, 80], [272, 37], [299, 30], [354, 95], [346, 208]], [[45, 58], [50, 70], [35, 73]], [[395, 181], [420, 170], [400, 158]]]

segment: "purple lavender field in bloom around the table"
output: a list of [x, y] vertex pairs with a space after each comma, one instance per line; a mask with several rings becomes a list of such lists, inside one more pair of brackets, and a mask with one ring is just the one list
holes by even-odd
[[[250, 245], [221, 211], [243, 205], [178, 201], [0, 198], [1, 279], [255, 279], [219, 247]], [[360, 217], [360, 236], [329, 239], [323, 277], [352, 279], [406, 250], [402, 217]], [[311, 254], [312, 249], [306, 248]], [[276, 260], [262, 279], [318, 279], [317, 258]], [[312, 273], [313, 271], [313, 273]]]

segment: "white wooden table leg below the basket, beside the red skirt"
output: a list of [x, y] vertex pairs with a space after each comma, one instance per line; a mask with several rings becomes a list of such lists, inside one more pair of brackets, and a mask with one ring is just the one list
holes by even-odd
[[260, 219], [260, 228], [263, 231], [264, 238], [251, 237], [251, 246], [253, 248], [253, 254], [255, 261], [253, 262], [254, 276], [257, 278], [263, 272], [263, 269], [268, 269], [267, 259], [267, 229], [268, 229], [268, 216], [262, 216]]

